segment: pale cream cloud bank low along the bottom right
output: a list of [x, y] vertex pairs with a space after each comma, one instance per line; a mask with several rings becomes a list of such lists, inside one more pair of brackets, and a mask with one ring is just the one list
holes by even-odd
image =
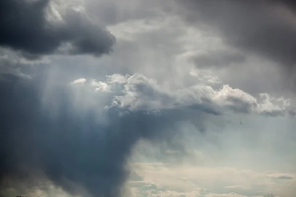
[[[294, 194], [293, 179], [286, 180], [283, 184], [277, 178], [271, 178], [268, 171], [187, 164], [159, 164], [159, 167], [156, 167], [153, 163], [136, 164], [132, 169], [143, 177], [143, 181], [129, 182], [130, 186], [135, 188], [135, 196], [163, 196], [165, 192], [172, 196], [186, 197], [261, 197], [270, 192], [289, 197]], [[154, 186], [143, 187], [146, 185]]]

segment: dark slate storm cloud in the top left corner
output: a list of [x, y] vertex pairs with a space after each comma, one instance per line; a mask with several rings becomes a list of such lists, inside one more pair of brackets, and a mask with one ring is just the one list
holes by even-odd
[[[109, 53], [114, 36], [83, 11], [68, 8], [62, 21], [48, 21], [56, 13], [50, 0], [1, 0], [0, 46], [21, 51], [28, 58], [44, 54]], [[63, 51], [59, 48], [70, 44]]]

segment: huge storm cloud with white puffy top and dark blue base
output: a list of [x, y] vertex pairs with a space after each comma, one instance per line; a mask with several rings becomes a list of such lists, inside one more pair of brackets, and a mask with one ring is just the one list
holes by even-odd
[[197, 86], [167, 92], [141, 74], [115, 74], [106, 82], [82, 78], [70, 87], [50, 89], [10, 76], [0, 85], [4, 188], [14, 186], [5, 180], [26, 183], [41, 176], [69, 193], [86, 190], [100, 197], [120, 196], [128, 175], [126, 160], [139, 139], [173, 145], [171, 139], [182, 134], [179, 123], [191, 122], [205, 131], [202, 117], [207, 114], [230, 110], [281, 115], [287, 111], [269, 101], [259, 104], [229, 86], [218, 91]]

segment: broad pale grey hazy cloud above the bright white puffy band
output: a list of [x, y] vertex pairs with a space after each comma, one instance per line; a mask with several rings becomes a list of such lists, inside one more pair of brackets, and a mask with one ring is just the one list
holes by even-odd
[[[171, 4], [174, 1], [161, 2]], [[154, 1], [149, 3], [157, 5]], [[142, 9], [140, 4], [133, 5]], [[108, 58], [108, 63], [99, 60], [103, 62], [101, 65], [111, 64], [109, 69], [122, 74], [143, 73], [173, 88], [194, 85], [198, 81], [215, 88], [229, 84], [252, 95], [268, 92], [281, 96], [285, 95], [284, 90], [291, 91], [283, 84], [287, 77], [282, 77], [282, 69], [276, 62], [229, 47], [219, 31], [205, 29], [200, 24], [188, 25], [173, 11], [159, 10], [159, 13], [146, 19], [135, 16], [136, 19], [108, 26], [116, 36], [117, 44], [111, 56], [104, 57], [104, 60]], [[219, 54], [221, 58], [217, 61], [224, 54], [245, 56], [245, 60], [229, 63], [229, 66], [222, 63], [207, 67], [196, 65], [194, 58], [205, 54], [214, 60], [214, 55]]]

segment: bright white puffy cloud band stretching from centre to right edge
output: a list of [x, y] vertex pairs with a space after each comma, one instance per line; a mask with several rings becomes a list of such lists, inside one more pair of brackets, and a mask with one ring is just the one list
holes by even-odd
[[[148, 79], [142, 74], [109, 76], [105, 86], [111, 88], [114, 84], [121, 85], [122, 95], [115, 96], [112, 106], [117, 106], [129, 111], [161, 110], [161, 109], [198, 109], [206, 113], [222, 114], [224, 110], [238, 113], [258, 113], [266, 116], [287, 114], [293, 110], [288, 99], [272, 98], [268, 94], [261, 94], [262, 102], [255, 97], [240, 90], [223, 85], [219, 90], [210, 86], [197, 85], [178, 89], [174, 92], [166, 91], [153, 79]], [[289, 113], [290, 114], [290, 113]]]

